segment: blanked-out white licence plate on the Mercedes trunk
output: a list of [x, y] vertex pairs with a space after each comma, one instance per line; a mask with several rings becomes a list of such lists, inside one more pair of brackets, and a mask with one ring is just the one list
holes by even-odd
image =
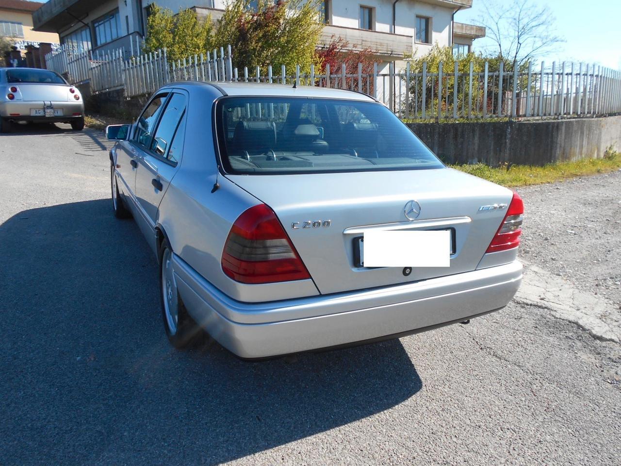
[[[358, 267], [450, 267], [455, 230], [371, 231], [355, 239]], [[357, 253], [357, 254], [356, 254]]]

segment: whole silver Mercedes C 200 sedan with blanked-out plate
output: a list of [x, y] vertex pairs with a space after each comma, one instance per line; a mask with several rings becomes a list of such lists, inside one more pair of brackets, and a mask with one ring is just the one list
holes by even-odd
[[175, 347], [391, 339], [501, 309], [522, 280], [517, 193], [447, 168], [364, 94], [175, 83], [107, 137], [112, 207], [158, 259]]

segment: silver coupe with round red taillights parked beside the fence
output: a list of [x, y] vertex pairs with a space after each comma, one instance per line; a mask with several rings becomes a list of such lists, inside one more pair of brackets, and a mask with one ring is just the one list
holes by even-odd
[[39, 68], [0, 68], [0, 130], [14, 122], [70, 123], [84, 128], [82, 94], [58, 73]]

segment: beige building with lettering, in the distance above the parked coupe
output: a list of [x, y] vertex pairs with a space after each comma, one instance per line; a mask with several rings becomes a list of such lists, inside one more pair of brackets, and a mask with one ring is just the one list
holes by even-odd
[[0, 0], [0, 36], [9, 37], [22, 55], [28, 45], [39, 47], [41, 42], [48, 42], [57, 47], [60, 43], [55, 32], [39, 32], [32, 29], [32, 12], [42, 5], [42, 2]]

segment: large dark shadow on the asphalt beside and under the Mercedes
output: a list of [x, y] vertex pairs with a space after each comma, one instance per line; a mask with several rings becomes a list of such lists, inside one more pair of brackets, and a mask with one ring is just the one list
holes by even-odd
[[155, 257], [107, 199], [22, 211], [0, 225], [0, 244], [7, 464], [219, 464], [422, 388], [399, 340], [294, 363], [172, 349]]

